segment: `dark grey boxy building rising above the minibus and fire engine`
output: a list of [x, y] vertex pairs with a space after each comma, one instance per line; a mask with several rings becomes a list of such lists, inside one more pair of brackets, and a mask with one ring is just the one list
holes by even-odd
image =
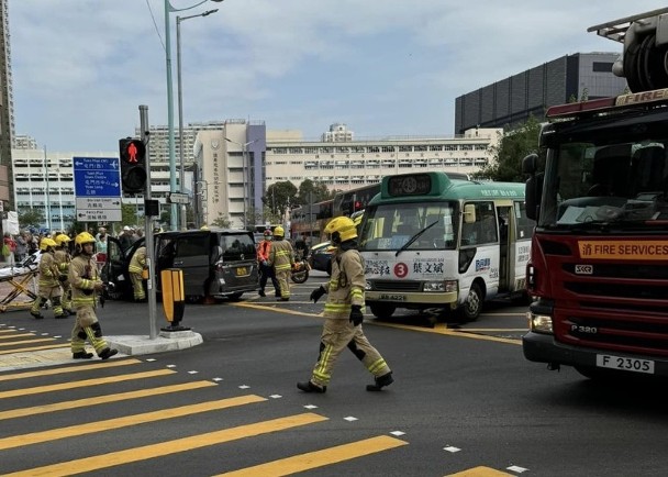
[[626, 80], [612, 74], [616, 53], [577, 53], [513, 75], [455, 100], [455, 133], [471, 127], [512, 127], [548, 107], [617, 96]]

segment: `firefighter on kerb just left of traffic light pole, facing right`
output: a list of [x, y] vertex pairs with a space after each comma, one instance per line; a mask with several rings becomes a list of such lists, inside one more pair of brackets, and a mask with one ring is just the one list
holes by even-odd
[[68, 279], [71, 284], [71, 302], [77, 313], [75, 328], [71, 330], [71, 357], [90, 359], [93, 355], [86, 351], [86, 339], [102, 359], [109, 359], [119, 353], [109, 346], [102, 336], [102, 328], [96, 315], [97, 296], [103, 292], [104, 284], [98, 273], [96, 237], [81, 232], [75, 239], [75, 257], [69, 264]]

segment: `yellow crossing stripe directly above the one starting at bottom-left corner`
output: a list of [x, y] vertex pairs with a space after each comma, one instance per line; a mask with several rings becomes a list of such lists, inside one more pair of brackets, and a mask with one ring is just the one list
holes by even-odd
[[59, 439], [76, 437], [87, 434], [100, 433], [101, 430], [119, 430], [132, 425], [145, 424], [147, 422], [163, 421], [166, 419], [183, 418], [200, 412], [218, 411], [221, 409], [245, 406], [254, 402], [266, 401], [255, 395], [240, 396], [235, 398], [220, 399], [218, 401], [198, 402], [197, 404], [180, 406], [178, 408], [160, 409], [158, 411], [143, 412], [141, 414], [129, 414], [122, 418], [107, 419], [103, 421], [88, 422], [86, 424], [70, 425], [67, 428], [52, 429], [48, 431], [31, 432], [29, 434], [12, 435], [0, 439], [0, 451], [22, 447], [32, 444], [52, 442]]

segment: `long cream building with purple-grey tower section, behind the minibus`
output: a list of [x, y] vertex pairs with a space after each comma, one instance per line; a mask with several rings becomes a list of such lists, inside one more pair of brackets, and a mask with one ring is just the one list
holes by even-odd
[[243, 228], [250, 211], [261, 213], [267, 187], [282, 181], [299, 187], [311, 179], [331, 190], [349, 190], [414, 168], [472, 174], [493, 158], [501, 132], [472, 129], [454, 137], [355, 140], [345, 124], [333, 124], [321, 141], [305, 141], [299, 131], [227, 121], [223, 131], [198, 134], [196, 214], [201, 223], [227, 218]]

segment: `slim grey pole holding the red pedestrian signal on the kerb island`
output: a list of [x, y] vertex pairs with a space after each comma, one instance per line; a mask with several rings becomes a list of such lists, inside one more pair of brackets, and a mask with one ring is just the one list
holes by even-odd
[[146, 265], [148, 266], [148, 337], [155, 340], [158, 335], [156, 324], [156, 298], [155, 298], [155, 246], [153, 244], [153, 217], [148, 213], [148, 201], [151, 201], [151, 151], [148, 141], [148, 107], [140, 106], [141, 140], [146, 145], [146, 191], [144, 192], [144, 236], [146, 237]]

